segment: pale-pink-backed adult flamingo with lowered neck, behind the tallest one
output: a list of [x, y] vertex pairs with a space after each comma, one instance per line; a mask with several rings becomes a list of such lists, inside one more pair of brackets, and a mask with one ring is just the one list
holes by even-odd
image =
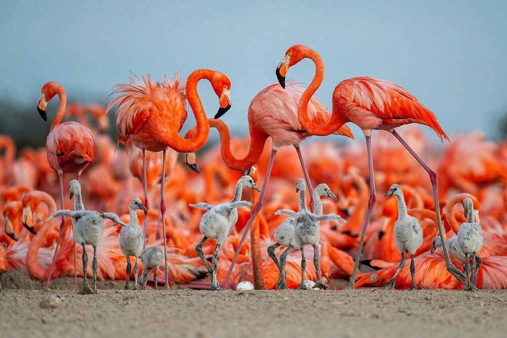
[[[264, 178], [261, 195], [256, 205], [253, 206], [250, 218], [246, 223], [243, 236], [239, 243], [236, 254], [231, 262], [229, 272], [222, 283], [222, 287], [226, 287], [231, 276], [232, 270], [236, 263], [239, 250], [243, 245], [246, 234], [251, 227], [253, 219], [257, 216], [262, 207], [264, 195], [268, 185], [271, 168], [275, 159], [276, 152], [282, 146], [294, 146], [299, 156], [301, 168], [303, 169], [305, 180], [309, 191], [313, 191], [308, 172], [306, 170], [299, 144], [307, 137], [312, 136], [312, 133], [304, 130], [298, 121], [297, 104], [303, 94], [304, 89], [297, 87], [293, 83], [288, 83], [285, 90], [280, 88], [277, 84], [266, 87], [261, 90], [250, 102], [248, 107], [248, 125], [250, 130], [250, 148], [248, 154], [243, 159], [236, 159], [231, 152], [231, 137], [227, 126], [219, 120], [209, 119], [209, 125], [215, 127], [220, 134], [221, 153], [222, 159], [226, 165], [234, 170], [247, 170], [259, 161], [262, 154], [264, 144], [268, 137], [272, 140], [271, 158], [269, 160], [268, 169]], [[327, 107], [325, 107], [315, 97], [311, 97], [308, 104], [308, 111], [310, 119], [313, 123], [325, 123], [329, 121], [331, 114]], [[192, 136], [194, 130], [189, 130], [187, 137]], [[347, 126], [342, 126], [333, 131], [336, 135], [344, 135], [353, 138], [350, 129]], [[195, 156], [190, 156], [190, 159]], [[197, 169], [195, 163], [189, 163], [189, 156], [187, 156], [187, 164]], [[198, 170], [196, 170], [198, 171]], [[310, 207], [313, 210], [313, 197], [310, 195]]]

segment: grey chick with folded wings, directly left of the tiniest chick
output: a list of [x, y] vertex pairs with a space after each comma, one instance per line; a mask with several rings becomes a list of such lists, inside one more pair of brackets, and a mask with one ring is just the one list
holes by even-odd
[[[142, 247], [144, 245], [144, 236], [142, 234], [142, 229], [137, 224], [137, 212], [136, 210], [144, 210], [147, 211], [146, 207], [142, 204], [141, 200], [138, 198], [134, 198], [129, 206], [128, 210], [130, 212], [130, 221], [126, 227], [123, 227], [120, 232], [120, 250], [127, 258], [127, 281], [125, 283], [124, 290], [130, 289], [128, 282], [130, 278], [130, 269], [132, 265], [130, 264], [130, 256], [135, 257], [135, 265], [134, 265], [134, 280], [135, 286], [134, 290], [137, 290], [137, 274], [139, 272], [139, 265], [137, 264], [137, 258], [141, 255]], [[144, 267], [144, 266], [143, 266]]]

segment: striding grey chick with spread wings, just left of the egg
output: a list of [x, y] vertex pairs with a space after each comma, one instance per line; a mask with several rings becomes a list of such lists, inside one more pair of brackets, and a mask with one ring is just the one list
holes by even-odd
[[[197, 244], [195, 251], [201, 257], [204, 265], [208, 269], [209, 276], [211, 278], [211, 290], [220, 290], [218, 281], [216, 280], [216, 267], [218, 265], [218, 253], [220, 246], [226, 240], [229, 235], [231, 227], [234, 226], [238, 220], [238, 207], [251, 206], [250, 202], [240, 201], [242, 190], [244, 187], [255, 189], [258, 192], [261, 190], [257, 186], [253, 179], [249, 175], [242, 176], [236, 183], [236, 193], [231, 202], [219, 204], [216, 206], [209, 205], [207, 203], [190, 204], [191, 207], [207, 210], [201, 217], [199, 222], [199, 230], [204, 235], [202, 241]], [[208, 238], [216, 239], [216, 247], [211, 257], [211, 264], [213, 268], [209, 266], [204, 253], [202, 252], [202, 245]]]

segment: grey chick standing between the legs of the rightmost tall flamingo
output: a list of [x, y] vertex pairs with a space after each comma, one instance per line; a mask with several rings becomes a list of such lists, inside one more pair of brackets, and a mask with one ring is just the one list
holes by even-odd
[[384, 197], [387, 196], [396, 196], [398, 199], [398, 219], [396, 223], [394, 223], [394, 241], [396, 242], [396, 247], [402, 254], [402, 260], [400, 261], [400, 265], [396, 270], [394, 276], [389, 280], [389, 282], [384, 286], [384, 289], [393, 289], [394, 281], [396, 277], [402, 271], [405, 266], [405, 250], [407, 250], [412, 256], [412, 260], [410, 262], [410, 274], [412, 275], [412, 287], [410, 290], [417, 290], [414, 282], [414, 274], [415, 274], [415, 264], [414, 264], [414, 254], [422, 245], [423, 236], [422, 236], [422, 228], [419, 224], [417, 218], [409, 216], [407, 213], [407, 205], [405, 204], [405, 199], [403, 197], [403, 191], [398, 184], [391, 185], [389, 191], [385, 193]]

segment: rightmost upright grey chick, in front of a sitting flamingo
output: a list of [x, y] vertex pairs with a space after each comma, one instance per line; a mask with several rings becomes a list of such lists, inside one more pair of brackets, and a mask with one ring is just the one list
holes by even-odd
[[[458, 230], [458, 247], [465, 254], [465, 265], [463, 272], [466, 275], [466, 290], [477, 290], [477, 272], [479, 267], [476, 265], [477, 253], [481, 251], [484, 238], [482, 237], [482, 229], [479, 223], [474, 221], [474, 202], [472, 199], [465, 198], [463, 200], [465, 208], [466, 223], [462, 223]], [[472, 255], [472, 284], [470, 284], [470, 265], [468, 256]]]

